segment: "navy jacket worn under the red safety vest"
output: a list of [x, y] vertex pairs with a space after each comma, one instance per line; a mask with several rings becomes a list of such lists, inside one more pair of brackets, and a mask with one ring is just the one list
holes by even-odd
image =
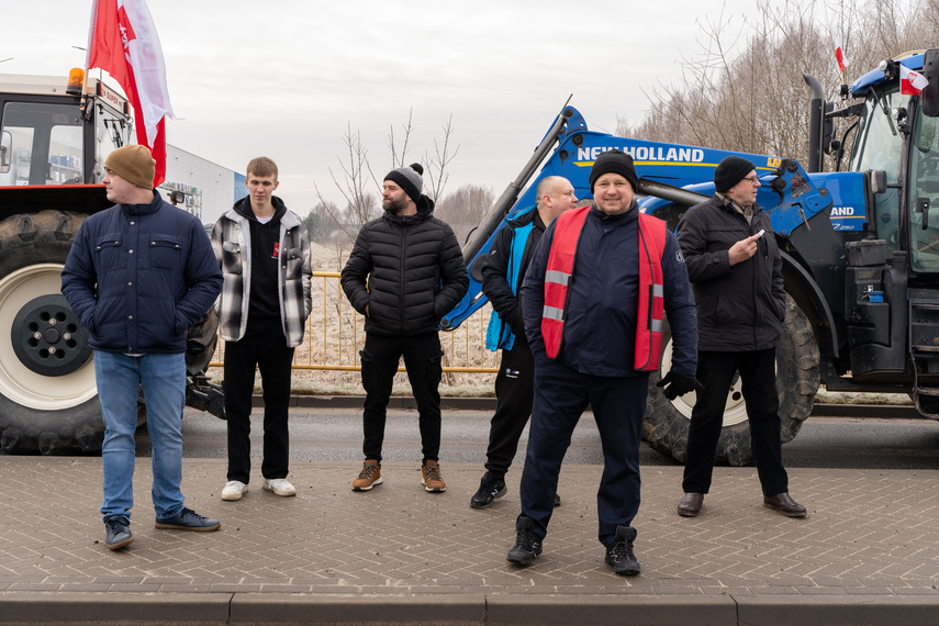
[[[606, 377], [649, 373], [633, 368], [639, 292], [638, 211], [635, 202], [629, 211], [618, 215], [606, 215], [594, 205], [581, 231], [568, 287], [564, 338], [557, 357], [581, 373]], [[536, 359], [548, 358], [541, 337], [541, 310], [556, 225], [557, 221], [545, 231], [522, 284], [525, 334]], [[673, 340], [672, 370], [694, 378], [697, 365], [694, 297], [681, 248], [671, 233], [666, 236], [662, 277]]]

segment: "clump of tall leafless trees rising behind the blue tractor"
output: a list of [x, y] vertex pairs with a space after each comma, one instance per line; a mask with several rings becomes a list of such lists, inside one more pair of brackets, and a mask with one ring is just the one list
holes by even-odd
[[682, 60], [681, 82], [659, 86], [651, 112], [631, 125], [619, 120], [617, 133], [805, 163], [803, 72], [834, 98], [841, 82], [836, 47], [857, 76], [883, 58], [928, 47], [923, 42], [935, 41], [939, 30], [937, 9], [939, 0], [760, 0], [738, 30], [722, 13], [702, 24], [697, 51]]

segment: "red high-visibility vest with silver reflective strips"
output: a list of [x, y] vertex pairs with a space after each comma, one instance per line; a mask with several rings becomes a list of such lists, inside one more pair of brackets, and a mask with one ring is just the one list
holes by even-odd
[[[637, 209], [638, 210], [638, 209]], [[545, 272], [545, 308], [541, 310], [541, 336], [548, 357], [561, 349], [564, 317], [577, 244], [590, 206], [561, 213], [555, 224], [555, 238]], [[636, 320], [636, 355], [634, 368], [655, 371], [662, 354], [662, 321], [664, 320], [664, 287], [662, 255], [666, 251], [666, 223], [639, 213], [639, 302]]]

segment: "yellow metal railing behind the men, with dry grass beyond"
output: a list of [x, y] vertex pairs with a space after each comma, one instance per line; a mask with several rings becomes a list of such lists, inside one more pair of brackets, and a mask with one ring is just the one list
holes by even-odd
[[[339, 286], [339, 272], [314, 271], [313, 308], [306, 318], [304, 342], [293, 355], [294, 370], [361, 371], [359, 350], [365, 343], [365, 317]], [[495, 373], [496, 353], [485, 349], [485, 327], [492, 308], [487, 304], [459, 328], [440, 334], [444, 372]], [[219, 342], [209, 367], [222, 367], [224, 342]], [[404, 371], [404, 368], [399, 368]]]

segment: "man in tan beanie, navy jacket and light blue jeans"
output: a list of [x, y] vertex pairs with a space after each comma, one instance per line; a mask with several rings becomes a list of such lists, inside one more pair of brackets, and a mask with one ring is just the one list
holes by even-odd
[[182, 407], [186, 331], [209, 310], [222, 272], [205, 228], [154, 192], [155, 161], [144, 146], [108, 155], [103, 183], [115, 206], [88, 217], [62, 271], [62, 292], [90, 333], [104, 418], [105, 545], [134, 540], [134, 432], [143, 385], [153, 441], [156, 527], [215, 530], [183, 506]]

